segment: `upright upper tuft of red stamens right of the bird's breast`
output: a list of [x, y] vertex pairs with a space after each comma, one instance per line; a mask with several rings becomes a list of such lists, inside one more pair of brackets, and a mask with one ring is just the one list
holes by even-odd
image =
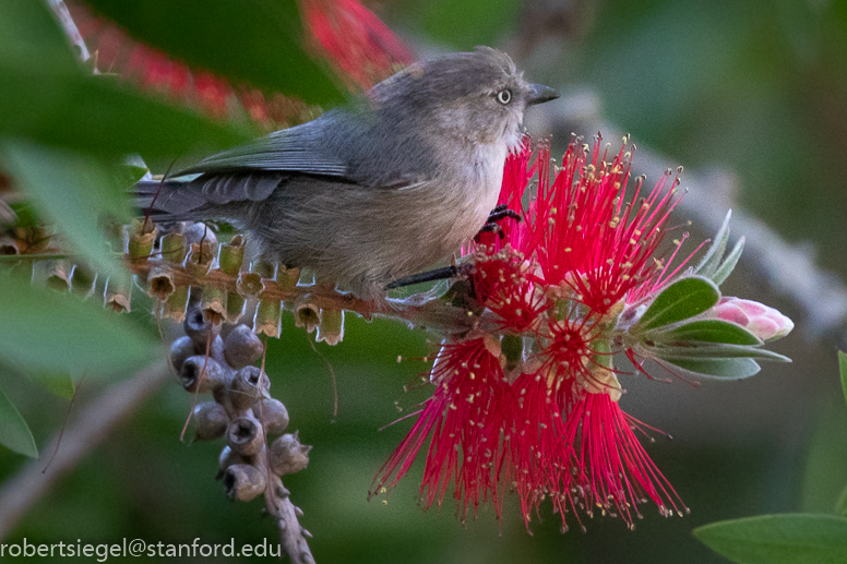
[[[536, 253], [545, 281], [563, 285], [592, 311], [604, 314], [651, 276], [668, 215], [673, 209], [669, 175], [642, 196], [636, 180], [624, 203], [631, 151], [601, 151], [599, 135], [571, 142], [549, 181], [549, 146], [539, 149], [538, 196], [528, 221], [527, 253]], [[676, 185], [677, 179], [673, 180]]]

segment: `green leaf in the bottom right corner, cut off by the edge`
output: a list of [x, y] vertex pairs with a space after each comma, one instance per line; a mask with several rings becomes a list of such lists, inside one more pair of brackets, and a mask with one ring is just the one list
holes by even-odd
[[844, 564], [847, 519], [780, 514], [713, 523], [694, 536], [739, 564]]

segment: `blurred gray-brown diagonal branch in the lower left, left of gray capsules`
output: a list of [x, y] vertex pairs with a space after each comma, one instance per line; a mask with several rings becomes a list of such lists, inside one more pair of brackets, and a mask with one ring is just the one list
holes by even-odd
[[43, 449], [45, 453], [56, 451], [46, 470], [44, 460], [32, 460], [7, 480], [0, 489], [0, 539], [12, 531], [26, 509], [44, 497], [57, 480], [73, 470], [120, 421], [141, 407], [168, 373], [164, 361], [156, 362], [127, 382], [112, 386], [83, 409], [76, 421], [65, 429], [61, 443], [57, 434]]

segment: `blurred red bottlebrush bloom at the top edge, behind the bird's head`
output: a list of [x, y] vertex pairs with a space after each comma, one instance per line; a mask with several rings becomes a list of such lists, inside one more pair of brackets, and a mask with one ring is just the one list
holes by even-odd
[[314, 43], [360, 88], [414, 60], [403, 41], [356, 0], [301, 0], [300, 5]]

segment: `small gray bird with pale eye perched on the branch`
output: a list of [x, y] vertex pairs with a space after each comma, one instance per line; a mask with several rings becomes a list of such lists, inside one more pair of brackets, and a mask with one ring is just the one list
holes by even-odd
[[524, 110], [558, 97], [503, 52], [415, 63], [345, 108], [142, 182], [164, 221], [226, 219], [263, 256], [373, 299], [455, 252], [497, 205]]

